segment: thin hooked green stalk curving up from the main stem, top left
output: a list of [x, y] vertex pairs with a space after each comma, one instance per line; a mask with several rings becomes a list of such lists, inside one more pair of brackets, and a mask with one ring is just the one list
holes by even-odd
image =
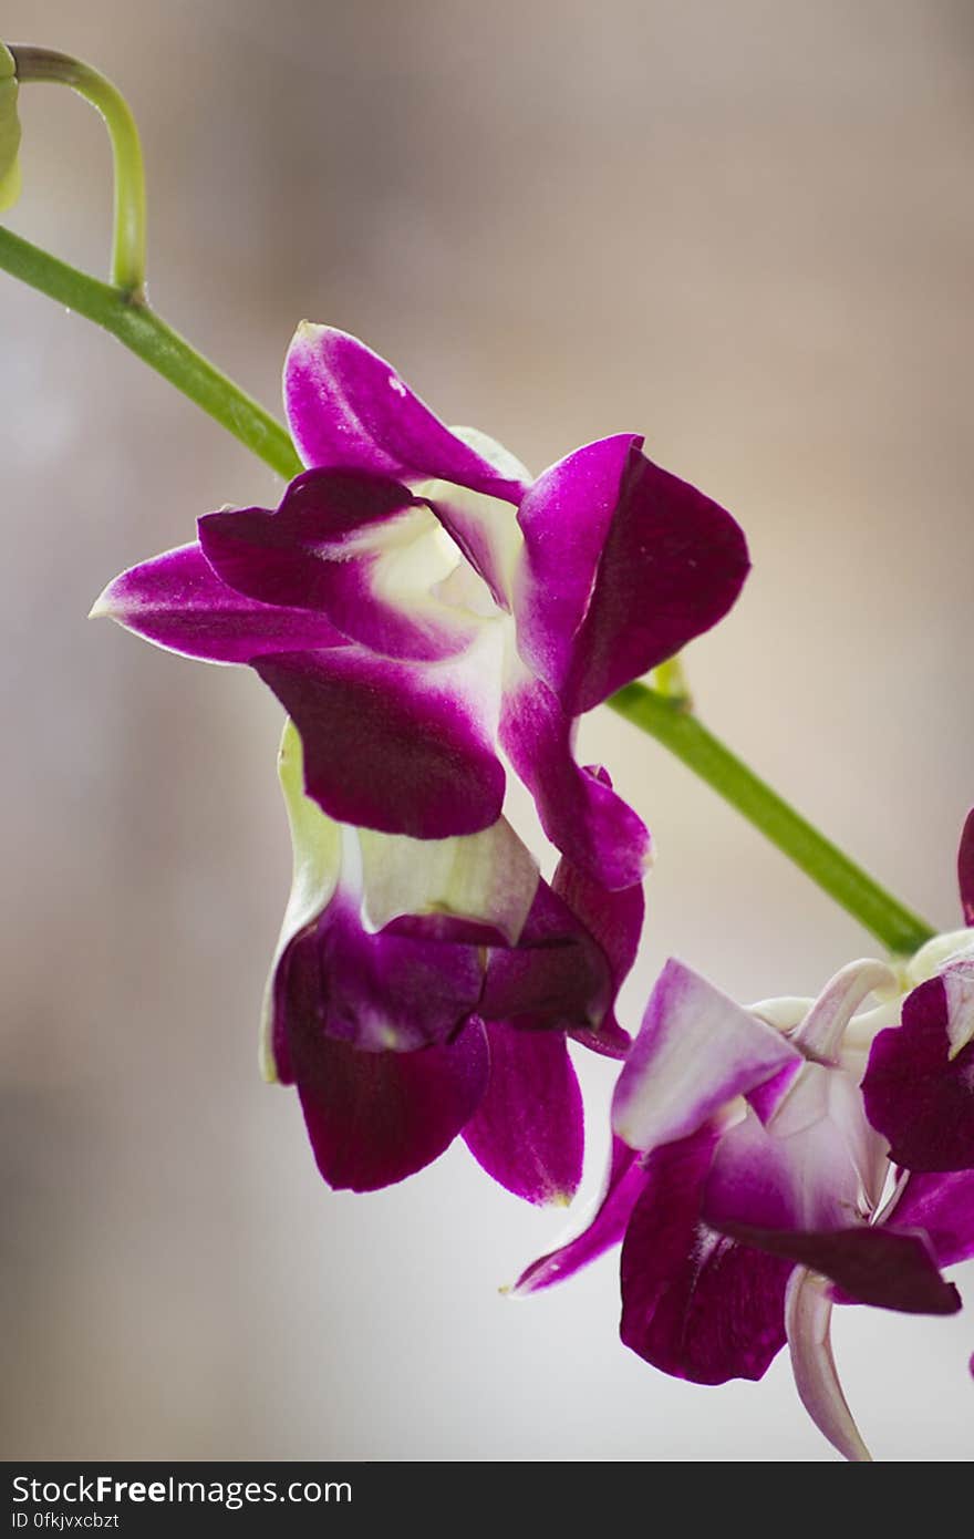
[[71, 86], [105, 119], [115, 166], [112, 283], [131, 300], [140, 300], [146, 274], [146, 192], [138, 129], [128, 102], [111, 80], [71, 54], [25, 43], [11, 43], [9, 51], [20, 85], [48, 80]]

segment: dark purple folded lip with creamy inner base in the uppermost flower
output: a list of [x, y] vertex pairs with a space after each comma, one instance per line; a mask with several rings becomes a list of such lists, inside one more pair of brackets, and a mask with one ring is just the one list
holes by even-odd
[[277, 512], [242, 508], [198, 520], [203, 554], [228, 586], [262, 603], [320, 609], [349, 640], [403, 659], [449, 657], [475, 634], [475, 622], [428, 593], [432, 565], [409, 573], [399, 603], [383, 589], [402, 549], [423, 551], [437, 529], [405, 486], [349, 471], [305, 471]]

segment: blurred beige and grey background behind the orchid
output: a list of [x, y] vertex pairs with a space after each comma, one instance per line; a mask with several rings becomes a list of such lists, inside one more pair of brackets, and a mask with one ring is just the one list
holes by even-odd
[[[8, 0], [129, 97], [151, 295], [268, 406], [302, 317], [540, 469], [589, 439], [729, 506], [754, 574], [705, 719], [939, 926], [974, 802], [974, 14], [966, 0]], [[105, 272], [102, 125], [28, 86], [12, 228]], [[89, 605], [272, 476], [0, 275], [3, 1454], [819, 1461], [785, 1359], [671, 1382], [605, 1259], [462, 1147], [335, 1196], [255, 1013], [289, 879], [280, 711]], [[652, 825], [645, 957], [740, 999], [876, 943], [665, 753], [582, 734]], [[612, 1071], [586, 1065], [599, 1182]], [[959, 1277], [963, 1284], [963, 1276]], [[974, 1302], [974, 1277], [966, 1271]], [[974, 1314], [840, 1311], [877, 1456], [968, 1459]]]

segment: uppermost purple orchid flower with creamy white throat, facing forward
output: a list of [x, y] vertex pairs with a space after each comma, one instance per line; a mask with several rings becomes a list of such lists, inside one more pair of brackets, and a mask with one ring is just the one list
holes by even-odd
[[255, 668], [302, 736], [308, 796], [342, 823], [489, 828], [503, 751], [577, 868], [639, 882], [646, 828], [574, 762], [574, 723], [729, 609], [736, 522], [632, 434], [532, 480], [326, 326], [299, 328], [285, 403], [309, 468], [280, 508], [200, 519], [197, 543], [123, 573], [92, 614]]

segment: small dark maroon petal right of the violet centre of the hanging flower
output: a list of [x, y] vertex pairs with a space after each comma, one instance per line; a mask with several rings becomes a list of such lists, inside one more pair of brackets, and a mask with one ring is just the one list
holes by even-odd
[[480, 1014], [528, 1028], [597, 1028], [611, 1000], [602, 946], [568, 903], [539, 882], [517, 946], [491, 953]]

